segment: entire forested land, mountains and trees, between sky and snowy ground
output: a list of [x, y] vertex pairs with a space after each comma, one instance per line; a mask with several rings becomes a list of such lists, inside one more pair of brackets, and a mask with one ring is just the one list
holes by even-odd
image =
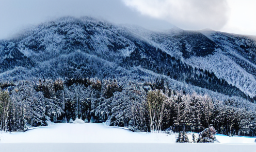
[[256, 134], [256, 42], [62, 17], [0, 41], [0, 130], [110, 122], [131, 131]]

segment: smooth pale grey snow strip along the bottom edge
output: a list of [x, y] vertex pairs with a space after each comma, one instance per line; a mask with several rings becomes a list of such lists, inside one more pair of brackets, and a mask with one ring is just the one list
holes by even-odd
[[255, 144], [218, 143], [4, 143], [1, 152], [255, 152]]

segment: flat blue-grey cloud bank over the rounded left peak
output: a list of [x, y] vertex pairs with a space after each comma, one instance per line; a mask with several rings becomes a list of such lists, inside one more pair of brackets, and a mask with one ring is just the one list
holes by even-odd
[[161, 18], [141, 15], [122, 0], [1, 0], [0, 40], [28, 26], [62, 16], [93, 16], [117, 24], [135, 24], [148, 29], [170, 29]]

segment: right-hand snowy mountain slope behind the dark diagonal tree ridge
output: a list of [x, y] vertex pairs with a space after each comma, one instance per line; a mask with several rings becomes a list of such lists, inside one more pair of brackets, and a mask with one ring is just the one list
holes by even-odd
[[256, 41], [249, 36], [177, 27], [164, 32], [130, 28], [155, 47], [188, 65], [212, 71], [251, 98], [256, 96]]

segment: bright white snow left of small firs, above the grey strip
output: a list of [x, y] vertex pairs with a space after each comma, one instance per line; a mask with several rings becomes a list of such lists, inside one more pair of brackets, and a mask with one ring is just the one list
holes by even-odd
[[[75, 120], [76, 121], [76, 120]], [[74, 121], [74, 122], [75, 122]], [[25, 132], [0, 134], [1, 143], [173, 143], [175, 135], [132, 132], [96, 123], [54, 124]]]

